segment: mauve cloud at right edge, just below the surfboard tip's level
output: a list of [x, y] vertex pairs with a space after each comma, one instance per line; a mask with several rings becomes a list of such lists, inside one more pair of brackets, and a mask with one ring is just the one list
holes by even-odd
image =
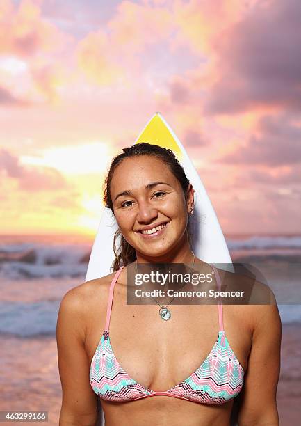
[[263, 116], [245, 145], [220, 157], [228, 164], [283, 166], [301, 162], [301, 127], [287, 116]]

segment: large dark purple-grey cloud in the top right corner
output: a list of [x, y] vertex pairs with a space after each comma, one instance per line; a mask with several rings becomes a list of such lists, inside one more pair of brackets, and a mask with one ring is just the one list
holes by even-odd
[[204, 112], [301, 107], [299, 0], [259, 2], [215, 35], [215, 82]]

